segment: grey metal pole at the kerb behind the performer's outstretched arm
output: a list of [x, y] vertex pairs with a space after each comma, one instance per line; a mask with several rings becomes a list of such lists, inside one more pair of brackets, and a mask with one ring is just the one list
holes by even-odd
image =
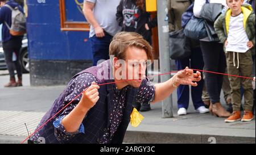
[[[171, 70], [169, 53], [169, 26], [167, 0], [158, 0], [158, 38], [159, 38], [159, 59], [160, 72], [167, 73]], [[161, 82], [171, 78], [170, 74], [160, 77]], [[172, 118], [172, 95], [162, 101], [162, 117]]]

